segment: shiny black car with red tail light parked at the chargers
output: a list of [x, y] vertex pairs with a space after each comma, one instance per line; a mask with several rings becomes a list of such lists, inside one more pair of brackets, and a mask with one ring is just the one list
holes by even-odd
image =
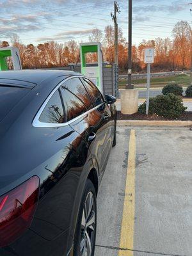
[[94, 255], [115, 100], [75, 72], [0, 72], [1, 256]]

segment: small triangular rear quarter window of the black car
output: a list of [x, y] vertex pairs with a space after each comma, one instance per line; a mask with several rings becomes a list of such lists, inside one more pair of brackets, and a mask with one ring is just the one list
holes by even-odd
[[40, 122], [61, 124], [65, 122], [63, 106], [61, 103], [60, 93], [54, 92], [49, 102], [45, 106], [39, 118]]

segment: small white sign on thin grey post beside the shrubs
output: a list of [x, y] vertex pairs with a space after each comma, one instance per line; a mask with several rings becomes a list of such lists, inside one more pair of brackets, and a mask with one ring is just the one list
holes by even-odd
[[145, 49], [144, 62], [147, 64], [147, 100], [146, 100], [146, 115], [148, 115], [149, 107], [149, 91], [150, 91], [150, 65], [154, 63], [155, 50], [154, 48]]

